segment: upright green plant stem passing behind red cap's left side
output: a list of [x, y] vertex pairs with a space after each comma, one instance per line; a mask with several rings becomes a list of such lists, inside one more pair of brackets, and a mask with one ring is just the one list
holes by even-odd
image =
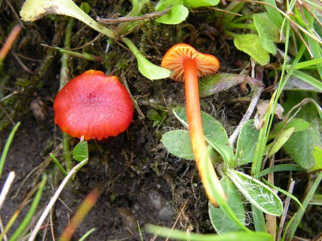
[[[74, 19], [69, 18], [68, 24], [65, 31], [65, 40], [64, 40], [64, 48], [70, 49], [70, 38], [72, 27], [74, 26]], [[60, 67], [60, 78], [59, 78], [59, 89], [64, 87], [64, 85], [70, 79], [70, 73], [68, 68], [68, 58], [69, 56], [65, 53], [61, 55], [61, 67]], [[69, 154], [69, 136], [66, 133], [62, 134], [62, 149], [64, 153], [65, 165], [67, 172], [70, 172], [72, 168], [72, 160]]]

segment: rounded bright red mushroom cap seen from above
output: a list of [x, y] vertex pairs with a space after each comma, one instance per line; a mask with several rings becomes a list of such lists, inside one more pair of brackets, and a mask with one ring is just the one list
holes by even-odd
[[117, 136], [133, 117], [131, 97], [116, 76], [89, 70], [70, 80], [54, 101], [55, 123], [85, 140]]

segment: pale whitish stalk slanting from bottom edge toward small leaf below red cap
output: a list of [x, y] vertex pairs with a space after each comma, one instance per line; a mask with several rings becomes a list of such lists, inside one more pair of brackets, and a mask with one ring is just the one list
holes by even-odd
[[61, 184], [59, 185], [59, 187], [56, 190], [55, 194], [53, 195], [53, 197], [50, 199], [49, 203], [47, 204], [45, 210], [43, 211], [43, 213], [39, 217], [34, 229], [32, 230], [32, 232], [30, 234], [30, 237], [29, 237], [28, 241], [35, 240], [36, 235], [37, 235], [42, 223], [46, 219], [48, 213], [50, 212], [50, 209], [55, 204], [56, 200], [58, 199], [58, 196], [60, 195], [61, 191], [63, 190], [63, 188], [67, 184], [68, 180], [77, 172], [77, 170], [79, 170], [79, 168], [84, 166], [87, 162], [88, 162], [88, 158], [86, 158], [84, 161], [82, 161], [82, 162], [78, 163], [76, 166], [74, 166], [71, 169], [71, 171], [68, 173], [68, 175], [64, 178], [64, 180], [61, 182]]

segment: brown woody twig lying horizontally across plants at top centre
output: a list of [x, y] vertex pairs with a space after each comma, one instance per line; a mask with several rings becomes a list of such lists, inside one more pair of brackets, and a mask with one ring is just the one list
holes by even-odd
[[128, 16], [128, 17], [120, 17], [120, 18], [109, 18], [109, 19], [102, 19], [100, 17], [96, 18], [96, 21], [99, 22], [100, 24], [119, 24], [119, 23], [126, 23], [126, 22], [135, 22], [139, 20], [145, 20], [145, 19], [150, 19], [150, 18], [156, 18], [160, 16], [164, 16], [167, 13], [169, 13], [170, 9], [167, 9], [162, 12], [154, 12], [150, 14], [145, 14], [143, 16]]

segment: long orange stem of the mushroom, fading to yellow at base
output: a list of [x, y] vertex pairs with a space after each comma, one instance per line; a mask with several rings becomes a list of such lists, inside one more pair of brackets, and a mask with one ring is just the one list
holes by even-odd
[[217, 193], [224, 200], [226, 200], [226, 195], [219, 182], [215, 169], [211, 164], [210, 156], [205, 143], [201, 121], [197, 65], [194, 60], [186, 59], [183, 62], [183, 67], [185, 71], [187, 118], [192, 149], [206, 195], [208, 196], [210, 202], [214, 206], [217, 206], [213, 188], [216, 189]]

